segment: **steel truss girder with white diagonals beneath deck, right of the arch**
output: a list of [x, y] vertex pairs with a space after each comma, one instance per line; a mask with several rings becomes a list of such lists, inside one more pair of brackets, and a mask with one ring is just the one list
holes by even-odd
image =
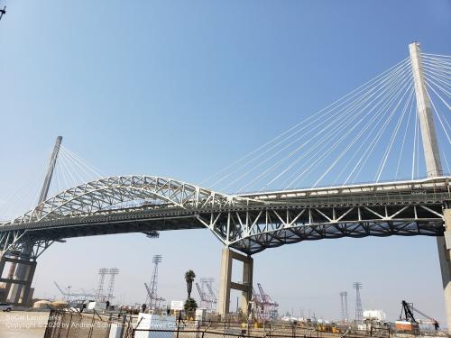
[[443, 235], [442, 206], [278, 208], [198, 215], [226, 245], [248, 254], [327, 238]]

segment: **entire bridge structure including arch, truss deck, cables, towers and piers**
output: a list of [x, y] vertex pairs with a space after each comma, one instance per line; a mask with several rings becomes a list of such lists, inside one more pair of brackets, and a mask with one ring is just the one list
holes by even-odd
[[[245, 313], [256, 252], [306, 240], [428, 235], [437, 237], [451, 327], [451, 242], [445, 241], [451, 226], [450, 69], [451, 57], [421, 54], [413, 43], [410, 58], [199, 186], [114, 176], [48, 197], [59, 139], [37, 206], [0, 225], [0, 271], [6, 261], [14, 263], [8, 278], [0, 279], [6, 297], [27, 301], [36, 259], [53, 242], [207, 228], [226, 247], [218, 310], [228, 312], [230, 289], [236, 288], [244, 293]], [[364, 175], [373, 182], [356, 183]], [[391, 180], [382, 181], [387, 175]], [[294, 188], [305, 182], [311, 187]], [[237, 193], [221, 193], [231, 188]], [[259, 190], [244, 192], [252, 188]], [[242, 283], [231, 281], [234, 259], [244, 262]]]

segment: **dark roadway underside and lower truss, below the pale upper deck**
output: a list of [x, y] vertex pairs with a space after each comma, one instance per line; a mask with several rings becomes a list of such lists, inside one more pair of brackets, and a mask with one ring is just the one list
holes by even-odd
[[[301, 241], [342, 237], [444, 233], [443, 202], [421, 205], [253, 206], [227, 209], [126, 210], [26, 224], [29, 242], [113, 233], [209, 228], [227, 246], [246, 254]], [[10, 230], [18, 225], [8, 226]], [[6, 229], [5, 229], [6, 230]]]

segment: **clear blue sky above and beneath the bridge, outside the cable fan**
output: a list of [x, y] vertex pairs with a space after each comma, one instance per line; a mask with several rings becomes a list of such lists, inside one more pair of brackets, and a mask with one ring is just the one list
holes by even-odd
[[[3, 201], [42, 171], [59, 134], [108, 175], [196, 183], [406, 58], [410, 42], [451, 54], [447, 0], [0, 4]], [[69, 240], [41, 256], [36, 295], [58, 295], [53, 280], [95, 288], [106, 266], [121, 270], [119, 297], [143, 302], [160, 253], [161, 296], [178, 299], [186, 269], [218, 279], [220, 249], [207, 231]], [[337, 318], [347, 290], [354, 315], [360, 280], [365, 308], [395, 319], [407, 299], [444, 322], [433, 238], [306, 242], [254, 258], [281, 312]]]

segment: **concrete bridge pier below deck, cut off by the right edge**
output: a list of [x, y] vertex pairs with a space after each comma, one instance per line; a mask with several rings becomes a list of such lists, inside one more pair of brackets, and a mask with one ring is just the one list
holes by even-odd
[[447, 333], [451, 336], [451, 209], [445, 209], [445, 236], [437, 237], [438, 260], [442, 272]]

